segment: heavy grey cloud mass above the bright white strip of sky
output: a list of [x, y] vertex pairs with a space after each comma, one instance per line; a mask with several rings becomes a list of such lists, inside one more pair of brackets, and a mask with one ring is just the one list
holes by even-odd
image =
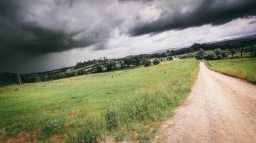
[[[122, 33], [139, 36], [203, 24], [224, 24], [256, 14], [253, 0], [119, 1], [121, 4], [114, 0], [1, 0], [0, 52], [36, 56], [92, 44], [95, 50], [100, 50], [106, 49], [115, 27], [123, 27]], [[127, 4], [129, 1], [132, 4]], [[118, 16], [118, 13], [122, 14]]]

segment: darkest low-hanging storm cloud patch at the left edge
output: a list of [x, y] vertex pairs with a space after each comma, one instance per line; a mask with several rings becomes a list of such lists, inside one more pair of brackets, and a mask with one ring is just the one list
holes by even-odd
[[5, 50], [33, 56], [93, 44], [91, 41], [83, 41], [83, 44], [74, 41], [72, 38], [80, 32], [68, 34], [30, 24], [19, 25], [19, 30], [7, 29], [1, 32], [0, 42]]

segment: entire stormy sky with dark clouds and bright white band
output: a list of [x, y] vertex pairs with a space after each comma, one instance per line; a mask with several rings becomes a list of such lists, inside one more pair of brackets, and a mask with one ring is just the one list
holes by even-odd
[[256, 34], [255, 0], [0, 0], [0, 72]]

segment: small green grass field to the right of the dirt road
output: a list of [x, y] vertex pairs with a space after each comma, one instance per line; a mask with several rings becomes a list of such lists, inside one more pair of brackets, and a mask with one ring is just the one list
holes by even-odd
[[256, 58], [206, 61], [206, 65], [211, 70], [256, 83]]

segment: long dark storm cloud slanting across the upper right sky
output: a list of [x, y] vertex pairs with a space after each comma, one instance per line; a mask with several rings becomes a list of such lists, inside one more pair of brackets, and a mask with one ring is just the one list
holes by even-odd
[[[196, 1], [193, 4], [195, 3]], [[129, 35], [140, 36], [148, 33], [161, 33], [166, 30], [182, 30], [204, 24], [225, 24], [233, 19], [255, 16], [255, 5], [255, 0], [205, 0], [199, 1], [195, 8], [187, 13], [182, 13], [182, 7], [170, 5], [174, 10], [164, 10], [160, 19], [150, 23], [138, 21], [138, 24], [129, 30]], [[187, 6], [189, 7], [189, 4]]]

